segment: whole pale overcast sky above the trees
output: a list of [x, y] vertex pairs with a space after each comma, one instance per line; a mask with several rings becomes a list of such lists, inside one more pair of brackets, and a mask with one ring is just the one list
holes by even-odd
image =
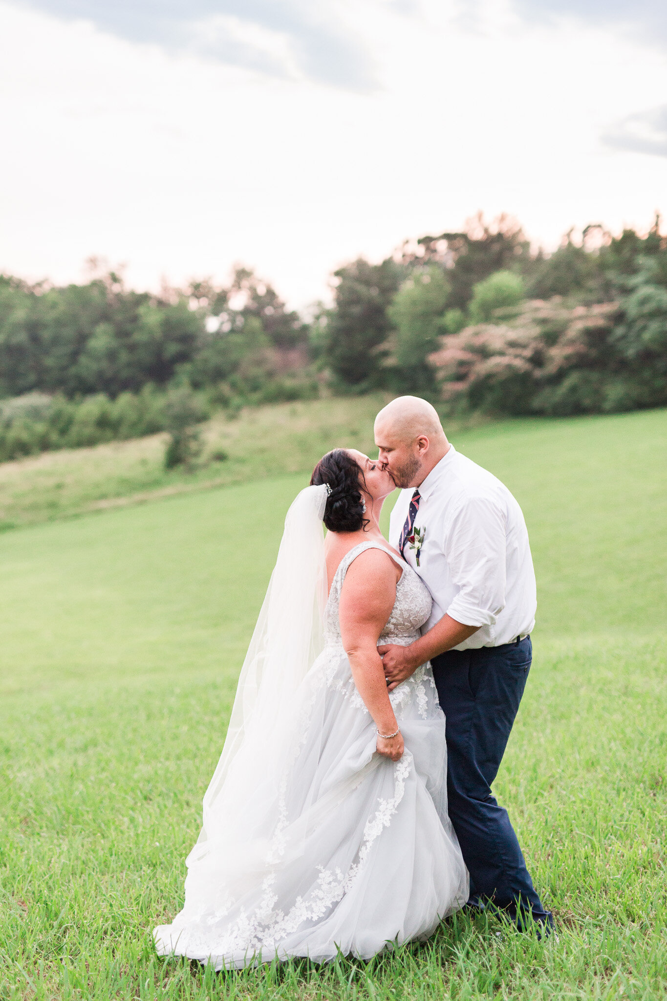
[[664, 0], [0, 0], [0, 268], [289, 302], [404, 237], [667, 212]]

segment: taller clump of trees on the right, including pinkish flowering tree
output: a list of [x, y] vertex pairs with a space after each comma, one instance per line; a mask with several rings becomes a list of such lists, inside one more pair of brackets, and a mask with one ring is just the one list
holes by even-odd
[[667, 236], [588, 226], [552, 254], [481, 216], [335, 273], [321, 351], [341, 389], [569, 415], [667, 403]]

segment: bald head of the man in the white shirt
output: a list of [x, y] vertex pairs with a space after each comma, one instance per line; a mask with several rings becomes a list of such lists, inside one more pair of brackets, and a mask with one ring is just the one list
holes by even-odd
[[419, 396], [398, 396], [380, 410], [375, 443], [397, 486], [418, 486], [449, 449], [438, 411]]

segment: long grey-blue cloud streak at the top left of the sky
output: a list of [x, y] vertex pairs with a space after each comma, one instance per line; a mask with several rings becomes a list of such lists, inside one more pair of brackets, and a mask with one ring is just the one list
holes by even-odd
[[[270, 53], [225, 35], [212, 21], [206, 39], [206, 21], [216, 15], [233, 15], [248, 25], [259, 25], [289, 38], [299, 68], [311, 79], [351, 90], [370, 90], [374, 74], [370, 53], [333, 14], [327, 5], [312, 0], [19, 0], [67, 19], [84, 18], [99, 28], [138, 42], [169, 47], [193, 45], [223, 62], [285, 71]], [[214, 25], [214, 26], [213, 26]]]

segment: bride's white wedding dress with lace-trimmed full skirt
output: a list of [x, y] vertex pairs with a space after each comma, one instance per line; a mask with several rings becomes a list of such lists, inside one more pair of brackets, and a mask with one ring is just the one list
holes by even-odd
[[[153, 932], [160, 955], [217, 970], [276, 957], [326, 962], [339, 951], [367, 959], [387, 943], [429, 936], [468, 899], [447, 816], [445, 718], [431, 668], [391, 693], [405, 739], [393, 763], [375, 751], [375, 724], [341, 645], [345, 574], [371, 548], [383, 549], [362, 543], [340, 564], [324, 611], [324, 649], [275, 731], [270, 716], [256, 728], [270, 733], [262, 766], [252, 771], [243, 748], [258, 683], [246, 680], [246, 745], [236, 738], [224, 774], [209, 787], [204, 829], [187, 859], [185, 906]], [[430, 611], [429, 592], [406, 565], [379, 642], [411, 643]]]

